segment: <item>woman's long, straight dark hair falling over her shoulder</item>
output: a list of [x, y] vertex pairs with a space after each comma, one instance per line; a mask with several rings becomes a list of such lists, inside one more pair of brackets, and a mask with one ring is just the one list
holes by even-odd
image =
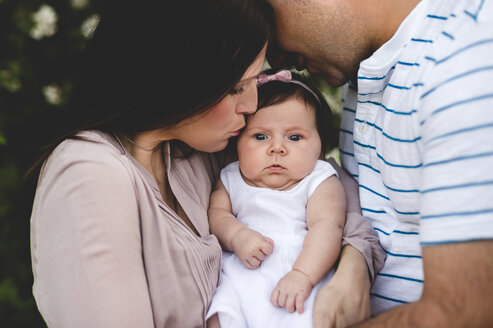
[[209, 109], [234, 89], [273, 29], [264, 0], [106, 3], [63, 132], [35, 170], [81, 130], [132, 134]]

